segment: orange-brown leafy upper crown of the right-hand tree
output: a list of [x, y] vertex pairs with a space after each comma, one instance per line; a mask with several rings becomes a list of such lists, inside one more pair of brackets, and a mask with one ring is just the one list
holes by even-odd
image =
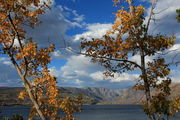
[[[129, 62], [130, 56], [140, 54], [140, 51], [143, 51], [144, 56], [153, 56], [158, 51], [170, 48], [175, 40], [174, 35], [148, 35], [144, 13], [142, 5], [121, 7], [115, 14], [112, 30], [100, 39], [83, 39], [81, 48], [86, 50], [87, 56], [93, 57], [93, 62], [100, 62], [109, 71], [133, 70], [138, 64], [135, 61]], [[115, 64], [113, 60], [118, 63]]]

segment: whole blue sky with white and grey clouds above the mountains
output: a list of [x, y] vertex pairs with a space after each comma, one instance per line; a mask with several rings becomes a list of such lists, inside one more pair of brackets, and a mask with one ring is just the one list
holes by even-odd
[[[46, 1], [46, 0], [44, 0]], [[149, 14], [150, 2], [137, 0]], [[175, 45], [166, 56], [167, 61], [180, 52], [180, 23], [177, 23], [175, 10], [179, 8], [179, 0], [159, 0], [155, 13], [156, 22], [150, 24], [149, 34], [175, 34]], [[116, 73], [114, 78], [105, 78], [105, 69], [98, 63], [91, 63], [89, 57], [78, 55], [66, 48], [79, 50], [81, 38], [101, 38], [110, 30], [115, 20], [117, 8], [112, 0], [55, 0], [51, 10], [40, 16], [42, 24], [35, 29], [27, 28], [27, 36], [32, 36], [39, 45], [47, 46], [55, 43], [56, 50], [52, 53], [53, 60], [49, 64], [51, 73], [58, 79], [58, 86], [71, 87], [105, 87], [111, 89], [125, 89], [134, 85], [138, 72]], [[139, 56], [130, 58], [140, 62]], [[153, 58], [148, 57], [151, 61]], [[175, 57], [180, 60], [180, 55]], [[171, 66], [173, 82], [180, 82], [180, 66]], [[9, 59], [0, 55], [0, 86], [22, 86], [16, 70]]]

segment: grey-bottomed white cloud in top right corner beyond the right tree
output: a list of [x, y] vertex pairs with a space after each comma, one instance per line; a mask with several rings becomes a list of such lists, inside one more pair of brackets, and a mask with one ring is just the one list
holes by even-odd
[[[176, 9], [179, 8], [179, 0], [158, 0], [154, 13], [155, 22], [150, 24], [150, 33], [153, 34], [168, 34], [175, 33], [176, 36], [180, 35], [180, 24], [176, 21]], [[148, 10], [150, 12], [150, 8]], [[148, 18], [148, 17], [147, 17]], [[177, 37], [177, 43], [180, 42]]]

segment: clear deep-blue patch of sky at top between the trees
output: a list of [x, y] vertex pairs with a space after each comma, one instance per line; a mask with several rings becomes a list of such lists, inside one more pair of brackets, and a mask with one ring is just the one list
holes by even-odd
[[[113, 6], [113, 0], [56, 0], [56, 5], [66, 6], [73, 10], [77, 10], [78, 14], [84, 15], [85, 22], [88, 24], [93, 23], [113, 23], [115, 20], [114, 14], [118, 10]], [[150, 4], [144, 1], [138, 1], [148, 7]], [[70, 30], [67, 32], [69, 35], [82, 32], [83, 29]]]

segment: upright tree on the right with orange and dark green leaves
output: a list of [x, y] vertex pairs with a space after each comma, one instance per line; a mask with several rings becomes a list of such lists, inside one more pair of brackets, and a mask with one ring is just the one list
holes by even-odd
[[[83, 39], [81, 48], [85, 55], [92, 57], [92, 62], [98, 62], [106, 68], [104, 73], [113, 76], [114, 72], [140, 70], [138, 83], [135, 89], [144, 90], [146, 102], [144, 111], [149, 119], [155, 120], [157, 115], [170, 115], [170, 95], [168, 77], [170, 69], [163, 57], [158, 57], [147, 62], [147, 56], [155, 56], [174, 44], [175, 36], [148, 34], [150, 22], [153, 20], [153, 10], [157, 0], [151, 6], [150, 14], [145, 21], [145, 8], [135, 6], [134, 0], [114, 0], [115, 6], [120, 9], [115, 14], [116, 20], [112, 30], [108, 31], [102, 39]], [[121, 6], [124, 5], [125, 7]], [[140, 64], [130, 59], [138, 55]], [[147, 64], [146, 64], [147, 63]], [[152, 88], [158, 92], [152, 95]]]

